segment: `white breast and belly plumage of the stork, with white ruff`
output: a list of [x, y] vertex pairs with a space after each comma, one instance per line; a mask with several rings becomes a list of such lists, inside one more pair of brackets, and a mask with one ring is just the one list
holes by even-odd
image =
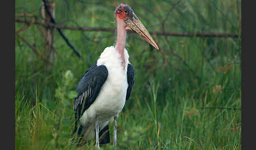
[[80, 119], [82, 124], [93, 122], [95, 118], [98, 122], [109, 121], [123, 109], [128, 87], [127, 64], [129, 63], [129, 55], [126, 49], [124, 49], [124, 59], [125, 68], [122, 65], [121, 55], [114, 46], [105, 48], [101, 53], [97, 60], [97, 66], [106, 66], [109, 75], [96, 100], [82, 115]]

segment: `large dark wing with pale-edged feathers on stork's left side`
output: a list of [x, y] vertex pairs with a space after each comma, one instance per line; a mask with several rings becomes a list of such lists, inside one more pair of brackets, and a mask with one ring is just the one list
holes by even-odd
[[101, 87], [105, 83], [108, 75], [109, 72], [105, 66], [97, 66], [94, 63], [78, 82], [76, 88], [78, 96], [74, 100], [73, 110], [78, 109], [78, 113], [83, 113], [88, 109], [100, 93]]

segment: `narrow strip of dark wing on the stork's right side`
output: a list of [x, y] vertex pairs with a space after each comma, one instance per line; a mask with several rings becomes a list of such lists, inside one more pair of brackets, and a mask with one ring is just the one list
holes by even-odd
[[126, 101], [130, 98], [130, 94], [132, 92], [132, 86], [134, 83], [134, 68], [133, 66], [129, 63], [127, 66], [127, 82], [128, 82], [128, 88], [127, 88], [127, 92], [126, 92]]

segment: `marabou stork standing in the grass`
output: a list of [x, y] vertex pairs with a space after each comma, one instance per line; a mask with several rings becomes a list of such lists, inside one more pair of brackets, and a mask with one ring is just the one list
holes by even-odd
[[[134, 30], [153, 47], [159, 49], [149, 32], [126, 4], [115, 9], [117, 41], [107, 47], [97, 61], [86, 70], [78, 82], [78, 96], [74, 100], [75, 129], [73, 133], [85, 141], [94, 138], [95, 146], [110, 143], [109, 121], [114, 119], [114, 139], [116, 145], [116, 118], [130, 97], [134, 83], [134, 68], [129, 62], [125, 49], [126, 30]], [[99, 143], [99, 137], [101, 141]], [[81, 138], [82, 139], [82, 138]]]

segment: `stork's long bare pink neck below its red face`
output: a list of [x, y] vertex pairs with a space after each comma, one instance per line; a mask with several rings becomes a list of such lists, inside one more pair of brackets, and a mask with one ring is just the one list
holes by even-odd
[[125, 47], [125, 41], [126, 41], [126, 29], [125, 29], [125, 24], [123, 20], [120, 18], [116, 17], [116, 23], [117, 23], [117, 41], [116, 41], [116, 46], [115, 50], [117, 50], [122, 59], [122, 65], [125, 69], [125, 59], [124, 59], [124, 47]]

